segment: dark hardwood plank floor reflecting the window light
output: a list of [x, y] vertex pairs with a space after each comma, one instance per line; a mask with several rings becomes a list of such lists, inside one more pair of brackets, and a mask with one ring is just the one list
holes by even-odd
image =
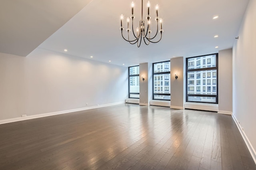
[[0, 169], [256, 170], [230, 115], [121, 104], [0, 125]]

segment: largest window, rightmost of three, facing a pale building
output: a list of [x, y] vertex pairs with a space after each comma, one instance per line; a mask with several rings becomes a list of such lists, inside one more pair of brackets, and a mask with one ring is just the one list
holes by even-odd
[[187, 58], [186, 77], [187, 102], [218, 103], [218, 53]]

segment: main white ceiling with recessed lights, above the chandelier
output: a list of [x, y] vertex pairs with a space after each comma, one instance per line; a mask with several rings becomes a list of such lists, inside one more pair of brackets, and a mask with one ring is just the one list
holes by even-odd
[[[233, 46], [249, 2], [150, 0], [152, 18], [155, 17], [154, 6], [159, 5], [158, 14], [164, 21], [163, 38], [159, 43], [150, 45], [142, 42], [138, 48], [123, 40], [119, 30], [120, 15], [123, 14], [127, 18], [131, 14], [131, 1], [92, 0], [39, 47], [106, 63], [111, 60], [112, 64], [124, 63], [126, 67], [144, 62], [166, 61], [174, 56], [192, 57], [216, 53]], [[141, 18], [141, 0], [133, 1], [137, 27]], [[146, 3], [147, 0], [144, 0], [144, 12]], [[213, 20], [215, 15], [219, 18]], [[126, 23], [126, 20], [123, 23]], [[152, 27], [152, 31], [155, 32], [156, 29]], [[214, 38], [214, 35], [219, 37]], [[215, 46], [219, 48], [216, 49]], [[68, 51], [64, 52], [64, 49]]]

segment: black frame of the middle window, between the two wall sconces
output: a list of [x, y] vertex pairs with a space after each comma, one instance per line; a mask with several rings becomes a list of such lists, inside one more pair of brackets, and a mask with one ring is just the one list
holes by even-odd
[[[161, 61], [161, 62], [157, 62], [157, 63], [166, 63], [166, 62], [170, 62], [170, 60], [168, 61]], [[152, 91], [153, 91], [153, 100], [162, 100], [162, 101], [170, 101], [168, 99], [155, 99], [155, 95], [162, 95], [162, 96], [171, 96], [171, 93], [154, 93], [154, 75], [158, 75], [158, 74], [170, 74], [170, 71], [164, 71], [164, 72], [156, 72], [154, 73], [154, 64], [157, 64], [157, 63], [152, 63], [153, 65], [153, 69], [152, 69], [152, 75], [153, 75], [153, 81], [152, 81]], [[169, 68], [170, 69], [170, 65], [169, 65]], [[158, 80], [157, 80], [158, 81]], [[160, 81], [169, 81], [169, 86], [170, 86], [170, 75], [169, 75], [169, 79], [168, 80], [165, 80], [164, 77], [163, 79]], [[170, 87], [171, 88], [171, 87]]]

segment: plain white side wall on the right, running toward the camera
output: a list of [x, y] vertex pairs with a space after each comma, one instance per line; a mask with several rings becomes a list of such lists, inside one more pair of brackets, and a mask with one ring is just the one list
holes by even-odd
[[256, 0], [250, 0], [238, 36], [233, 46], [233, 114], [255, 149]]

